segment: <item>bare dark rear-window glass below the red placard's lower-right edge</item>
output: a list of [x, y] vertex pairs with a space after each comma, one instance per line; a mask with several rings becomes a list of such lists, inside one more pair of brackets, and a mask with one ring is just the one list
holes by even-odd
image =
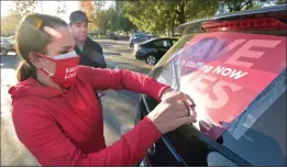
[[257, 99], [222, 134], [223, 146], [255, 166], [286, 166], [286, 72]]

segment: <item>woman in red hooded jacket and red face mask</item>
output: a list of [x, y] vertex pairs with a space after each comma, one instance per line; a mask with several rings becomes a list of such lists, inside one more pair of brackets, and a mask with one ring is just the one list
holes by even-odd
[[[27, 15], [16, 33], [24, 59], [11, 87], [19, 139], [42, 166], [133, 166], [163, 133], [195, 122], [191, 100], [154, 79], [128, 70], [78, 66], [65, 21]], [[102, 110], [93, 89], [128, 89], [162, 101], [143, 121], [107, 147]]]

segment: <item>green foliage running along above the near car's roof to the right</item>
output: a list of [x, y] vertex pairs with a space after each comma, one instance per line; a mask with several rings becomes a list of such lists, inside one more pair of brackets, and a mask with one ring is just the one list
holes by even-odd
[[[286, 0], [277, 0], [286, 3]], [[174, 29], [195, 19], [272, 4], [271, 0], [134, 0], [123, 12], [141, 31], [174, 36]]]

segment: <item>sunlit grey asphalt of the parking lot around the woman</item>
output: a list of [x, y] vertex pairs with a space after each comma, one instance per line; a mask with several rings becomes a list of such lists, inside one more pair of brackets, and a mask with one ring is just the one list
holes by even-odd
[[[130, 69], [147, 74], [151, 67], [132, 56], [132, 48], [124, 41], [97, 41], [103, 48], [109, 68]], [[38, 166], [36, 159], [19, 142], [11, 121], [11, 99], [8, 89], [16, 83], [15, 67], [19, 60], [13, 53], [1, 56], [1, 166]], [[133, 126], [134, 109], [139, 94], [131, 91], [108, 90], [102, 98], [104, 137], [113, 144], [121, 132]]]

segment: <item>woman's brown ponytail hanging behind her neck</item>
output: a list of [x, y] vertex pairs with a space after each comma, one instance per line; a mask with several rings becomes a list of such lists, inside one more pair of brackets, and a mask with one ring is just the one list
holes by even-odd
[[30, 77], [35, 77], [35, 67], [30, 66], [25, 60], [22, 60], [19, 64], [19, 67], [16, 69], [16, 79], [18, 81], [26, 80]]

